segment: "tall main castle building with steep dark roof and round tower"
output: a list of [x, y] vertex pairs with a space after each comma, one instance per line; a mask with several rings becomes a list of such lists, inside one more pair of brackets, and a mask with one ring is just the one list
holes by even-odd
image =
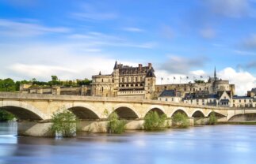
[[155, 70], [151, 63], [138, 67], [117, 64], [113, 73], [92, 77], [91, 95], [105, 97], [138, 97], [153, 99], [155, 93]]

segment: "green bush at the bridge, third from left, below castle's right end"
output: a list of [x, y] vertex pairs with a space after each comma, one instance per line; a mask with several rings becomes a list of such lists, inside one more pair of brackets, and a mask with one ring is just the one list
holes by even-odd
[[150, 111], [144, 118], [145, 130], [161, 130], [166, 128], [166, 114], [159, 114], [156, 111]]

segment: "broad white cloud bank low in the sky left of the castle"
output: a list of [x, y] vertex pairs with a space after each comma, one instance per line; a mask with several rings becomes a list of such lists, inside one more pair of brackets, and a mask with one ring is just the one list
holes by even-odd
[[[52, 75], [61, 80], [91, 78], [101, 71], [102, 74], [113, 72], [116, 59], [109, 54], [94, 50], [84, 52], [70, 44], [21, 44], [6, 46], [0, 44], [2, 58], [0, 61], [0, 78], [11, 77], [15, 80], [50, 80]], [[127, 65], [133, 62], [120, 61]]]

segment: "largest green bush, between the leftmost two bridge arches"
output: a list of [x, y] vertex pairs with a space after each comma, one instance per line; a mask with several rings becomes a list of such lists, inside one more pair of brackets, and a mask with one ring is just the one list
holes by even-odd
[[53, 134], [59, 134], [63, 137], [75, 136], [77, 129], [78, 119], [75, 114], [68, 110], [57, 111], [52, 114], [52, 127]]

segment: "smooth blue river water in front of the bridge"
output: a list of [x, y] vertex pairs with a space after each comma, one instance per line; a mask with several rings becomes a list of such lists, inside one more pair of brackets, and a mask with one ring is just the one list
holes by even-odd
[[255, 125], [216, 125], [75, 138], [17, 136], [0, 123], [0, 164], [256, 163]]

